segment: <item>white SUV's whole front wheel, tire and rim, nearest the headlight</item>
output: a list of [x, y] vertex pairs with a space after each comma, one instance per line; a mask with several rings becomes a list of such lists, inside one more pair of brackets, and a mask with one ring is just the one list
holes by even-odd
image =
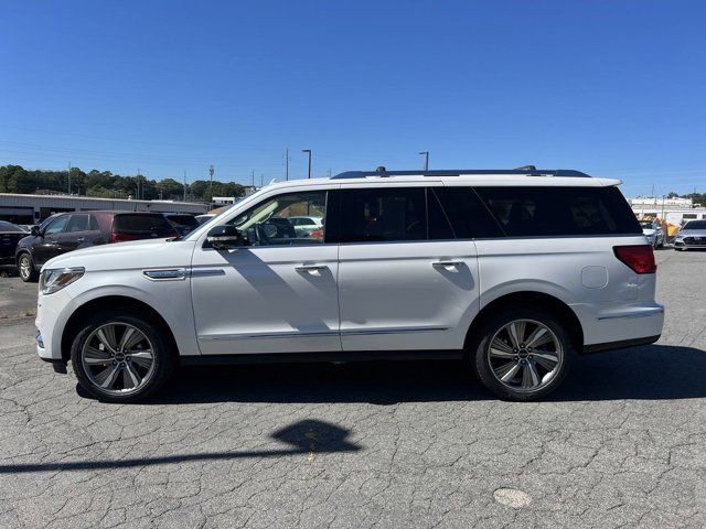
[[136, 402], [157, 391], [174, 368], [174, 356], [153, 322], [114, 311], [88, 320], [76, 334], [71, 359], [76, 378], [106, 402]]

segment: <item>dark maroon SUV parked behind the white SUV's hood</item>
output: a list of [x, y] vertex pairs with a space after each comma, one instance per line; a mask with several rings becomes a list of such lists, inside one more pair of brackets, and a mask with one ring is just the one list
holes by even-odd
[[22, 281], [36, 281], [42, 264], [67, 251], [178, 235], [161, 213], [62, 213], [44, 220], [18, 242], [15, 262]]

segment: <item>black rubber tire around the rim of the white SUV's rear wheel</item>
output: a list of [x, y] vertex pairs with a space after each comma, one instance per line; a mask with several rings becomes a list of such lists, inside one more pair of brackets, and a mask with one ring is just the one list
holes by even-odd
[[[504, 386], [495, 378], [492, 373], [488, 354], [490, 341], [492, 337], [507, 323], [515, 320], [534, 320], [541, 322], [552, 330], [560, 342], [564, 349], [564, 359], [554, 379], [544, 388], [533, 392], [514, 391]], [[492, 392], [505, 400], [530, 401], [542, 398], [554, 391], [566, 378], [569, 365], [575, 355], [571, 348], [571, 342], [565, 327], [560, 323], [560, 319], [556, 317], [548, 311], [541, 309], [507, 309], [501, 310], [495, 315], [490, 316], [479, 330], [477, 335], [471, 338], [468, 347], [469, 361], [477, 377]]]

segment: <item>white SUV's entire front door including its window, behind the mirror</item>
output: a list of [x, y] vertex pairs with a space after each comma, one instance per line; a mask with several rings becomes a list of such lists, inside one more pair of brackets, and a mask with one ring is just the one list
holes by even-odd
[[[327, 191], [288, 191], [224, 220], [247, 246], [197, 246], [192, 262], [196, 334], [205, 355], [341, 350], [338, 245], [298, 235], [290, 217], [324, 216]], [[204, 247], [205, 246], [205, 247]]]

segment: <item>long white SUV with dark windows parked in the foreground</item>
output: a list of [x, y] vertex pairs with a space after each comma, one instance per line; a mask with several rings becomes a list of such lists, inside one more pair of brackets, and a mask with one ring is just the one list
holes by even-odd
[[[42, 269], [38, 353], [136, 401], [174, 367], [456, 358], [498, 396], [655, 342], [655, 262], [617, 185], [576, 171], [342, 173], [272, 184], [183, 238]], [[321, 217], [299, 237], [290, 217]]]

